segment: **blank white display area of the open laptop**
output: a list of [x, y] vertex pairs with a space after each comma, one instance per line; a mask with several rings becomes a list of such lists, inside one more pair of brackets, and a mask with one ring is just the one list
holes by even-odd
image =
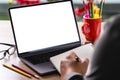
[[70, 1], [10, 9], [18, 52], [79, 41]]

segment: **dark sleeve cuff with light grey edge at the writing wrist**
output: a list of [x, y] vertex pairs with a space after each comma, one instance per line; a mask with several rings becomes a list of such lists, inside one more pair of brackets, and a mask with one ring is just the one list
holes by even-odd
[[83, 80], [83, 76], [81, 76], [79, 73], [73, 72], [68, 74], [64, 80]]

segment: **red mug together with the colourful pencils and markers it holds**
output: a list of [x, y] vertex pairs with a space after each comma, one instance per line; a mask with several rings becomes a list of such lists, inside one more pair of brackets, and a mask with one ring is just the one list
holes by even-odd
[[97, 6], [93, 1], [89, 1], [87, 13], [83, 16], [82, 32], [85, 35], [87, 42], [94, 42], [98, 39], [101, 33], [102, 12], [104, 0], [101, 0], [100, 6]]

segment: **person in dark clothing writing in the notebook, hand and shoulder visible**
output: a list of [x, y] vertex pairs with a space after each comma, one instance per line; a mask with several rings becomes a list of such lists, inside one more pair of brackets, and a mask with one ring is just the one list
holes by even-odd
[[[89, 64], [88, 72], [86, 76], [84, 76], [85, 80], [120, 80], [120, 75], [118, 74], [120, 72], [120, 14], [111, 17], [104, 27], [104, 33], [95, 42], [94, 55]], [[73, 57], [68, 61], [71, 59], [73, 59]], [[73, 64], [68, 61], [62, 62], [64, 64], [61, 63], [62, 80], [64, 80], [69, 73], [82, 73], [83, 71], [81, 70], [85, 67], [83, 62], [78, 64], [73, 62]], [[72, 77], [74, 76], [71, 76], [71, 78]]]

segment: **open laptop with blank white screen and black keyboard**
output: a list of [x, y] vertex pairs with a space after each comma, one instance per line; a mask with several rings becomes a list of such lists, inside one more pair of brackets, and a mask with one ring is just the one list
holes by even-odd
[[39, 75], [57, 71], [50, 57], [81, 46], [72, 0], [8, 10], [18, 57]]

